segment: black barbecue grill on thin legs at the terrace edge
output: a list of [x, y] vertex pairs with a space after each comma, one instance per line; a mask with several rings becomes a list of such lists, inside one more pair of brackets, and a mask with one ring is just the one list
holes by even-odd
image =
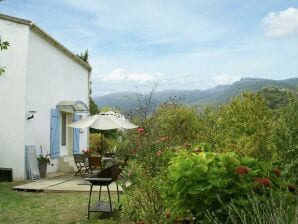
[[[119, 166], [113, 165], [85, 179], [90, 183], [88, 219], [90, 218], [90, 212], [110, 212], [110, 214], [112, 214], [112, 212], [116, 210], [116, 206], [111, 201], [111, 193], [110, 193], [109, 185], [112, 182], [116, 181], [117, 197], [119, 202], [120, 198], [119, 198], [119, 188], [118, 188], [117, 179], [120, 173], [121, 173], [121, 169], [119, 168]], [[99, 195], [98, 195], [98, 201], [94, 204], [94, 206], [91, 207], [91, 195], [92, 195], [93, 186], [99, 186]], [[102, 186], [106, 186], [108, 190], [108, 195], [109, 195], [108, 202], [101, 201]]]

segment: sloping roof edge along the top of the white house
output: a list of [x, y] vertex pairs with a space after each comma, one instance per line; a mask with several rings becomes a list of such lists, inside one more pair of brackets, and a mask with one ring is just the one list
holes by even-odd
[[64, 47], [56, 39], [54, 39], [53, 37], [51, 37], [47, 32], [43, 31], [41, 28], [39, 28], [37, 25], [35, 25], [32, 21], [25, 20], [25, 19], [20, 19], [20, 18], [8, 16], [8, 15], [4, 15], [4, 14], [1, 14], [1, 13], [0, 13], [0, 18], [1, 19], [4, 19], [4, 20], [8, 20], [8, 21], [12, 21], [12, 22], [15, 22], [15, 23], [20, 23], [20, 24], [29, 26], [31, 30], [33, 30], [34, 32], [36, 32], [39, 35], [41, 35], [48, 42], [50, 42], [53, 46], [55, 46], [56, 48], [58, 48], [59, 50], [61, 50], [62, 52], [64, 52], [67, 56], [69, 56], [70, 58], [72, 58], [74, 61], [76, 61], [77, 63], [79, 63], [81, 66], [83, 66], [85, 69], [87, 69], [88, 72], [91, 72], [92, 67], [90, 66], [89, 63], [86, 63], [85, 61], [83, 61], [82, 59], [80, 59], [77, 55], [75, 55], [73, 52], [71, 52], [66, 47]]

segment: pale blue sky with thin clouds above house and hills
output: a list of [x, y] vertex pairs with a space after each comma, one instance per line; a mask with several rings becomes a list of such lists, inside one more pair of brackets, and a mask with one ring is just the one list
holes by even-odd
[[5, 0], [75, 54], [92, 95], [298, 77], [297, 0]]

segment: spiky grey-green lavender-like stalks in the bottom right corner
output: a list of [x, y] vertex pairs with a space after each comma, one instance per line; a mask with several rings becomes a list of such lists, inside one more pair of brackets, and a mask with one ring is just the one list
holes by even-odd
[[228, 218], [223, 222], [217, 214], [208, 211], [208, 224], [284, 224], [296, 223], [297, 196], [288, 192], [271, 192], [270, 197], [260, 198], [257, 194], [248, 195], [248, 205], [239, 208], [232, 200], [227, 208]]

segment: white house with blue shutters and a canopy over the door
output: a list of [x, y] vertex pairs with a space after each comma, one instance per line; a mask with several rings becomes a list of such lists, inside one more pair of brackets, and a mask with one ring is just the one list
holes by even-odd
[[[91, 67], [34, 23], [0, 14], [0, 168], [26, 178], [25, 146], [51, 154], [49, 172], [74, 169], [87, 131], [67, 127], [88, 110]], [[39, 151], [37, 152], [37, 154]]]

